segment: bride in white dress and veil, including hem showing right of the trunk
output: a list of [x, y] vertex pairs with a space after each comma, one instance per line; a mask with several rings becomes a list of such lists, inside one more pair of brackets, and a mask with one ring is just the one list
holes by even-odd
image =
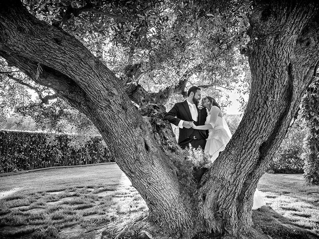
[[[211, 162], [214, 162], [219, 153], [225, 149], [232, 135], [215, 99], [206, 96], [203, 98], [201, 104], [208, 111], [205, 125], [196, 126], [192, 123], [192, 128], [208, 129], [208, 138], [204, 153], [210, 156]], [[264, 205], [266, 205], [264, 198], [260, 191], [256, 189], [252, 209], [256, 210]]]

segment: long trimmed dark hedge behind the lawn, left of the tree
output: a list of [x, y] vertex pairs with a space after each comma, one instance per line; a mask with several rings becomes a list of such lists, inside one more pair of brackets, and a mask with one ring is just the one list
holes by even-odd
[[0, 130], [0, 173], [112, 161], [101, 136]]

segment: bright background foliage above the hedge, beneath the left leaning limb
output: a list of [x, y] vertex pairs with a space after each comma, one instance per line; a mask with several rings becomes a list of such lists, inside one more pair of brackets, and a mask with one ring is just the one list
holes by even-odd
[[[51, 89], [9, 67], [1, 58], [0, 71], [0, 128], [98, 134], [86, 116], [56, 98]], [[36, 129], [21, 127], [30, 119]]]

